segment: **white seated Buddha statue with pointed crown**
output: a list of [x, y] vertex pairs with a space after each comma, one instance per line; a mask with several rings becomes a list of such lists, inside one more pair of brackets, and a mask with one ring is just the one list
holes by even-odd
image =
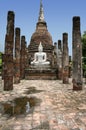
[[38, 52], [34, 54], [34, 60], [31, 62], [31, 65], [49, 65], [50, 62], [47, 61], [47, 55], [43, 52], [43, 46], [40, 42], [38, 47]]

